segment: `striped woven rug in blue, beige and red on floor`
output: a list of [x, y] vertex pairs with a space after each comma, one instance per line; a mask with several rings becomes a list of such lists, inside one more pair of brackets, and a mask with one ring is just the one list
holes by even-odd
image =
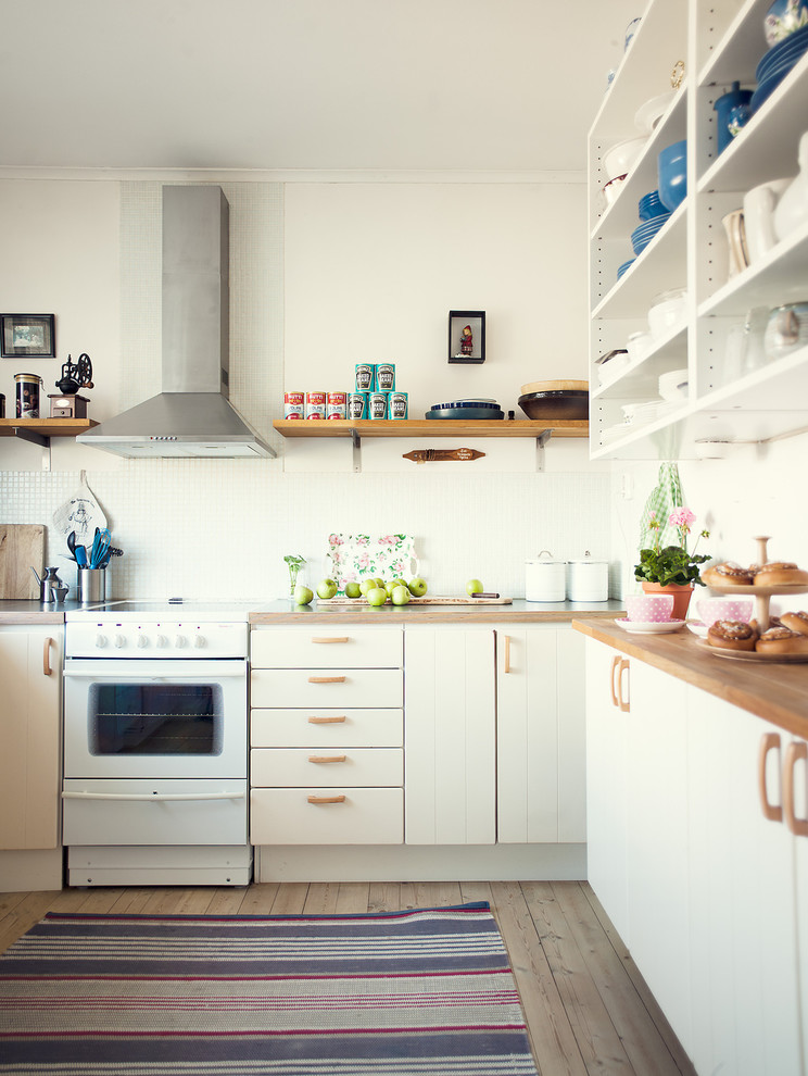
[[536, 1076], [482, 902], [50, 913], [0, 956], [0, 1073]]

